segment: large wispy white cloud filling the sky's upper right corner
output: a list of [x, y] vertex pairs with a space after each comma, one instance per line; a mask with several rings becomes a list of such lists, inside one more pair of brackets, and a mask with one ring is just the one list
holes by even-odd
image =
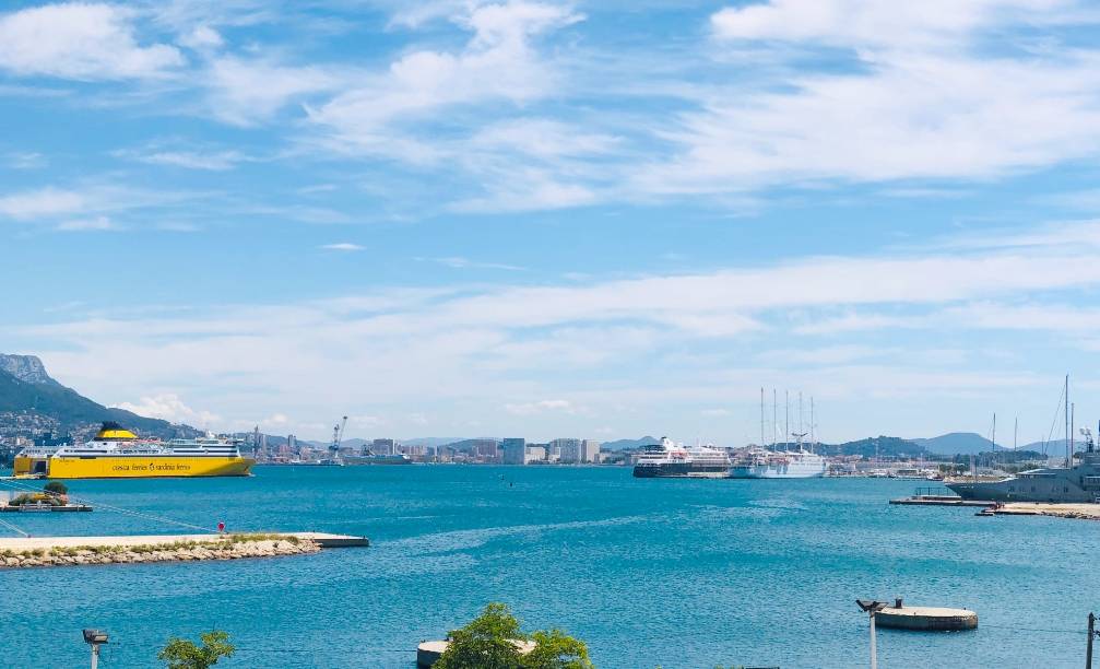
[[[737, 193], [815, 180], [989, 178], [1100, 151], [1100, 53], [982, 53], [990, 32], [1054, 22], [1058, 0], [774, 0], [712, 23], [734, 64], [774, 61], [738, 87], [703, 86], [662, 136], [674, 155], [636, 189]], [[777, 44], [778, 42], [778, 44]], [[806, 66], [806, 52], [853, 63]], [[988, 50], [987, 50], [988, 51]], [[763, 54], [763, 55], [761, 55]]]

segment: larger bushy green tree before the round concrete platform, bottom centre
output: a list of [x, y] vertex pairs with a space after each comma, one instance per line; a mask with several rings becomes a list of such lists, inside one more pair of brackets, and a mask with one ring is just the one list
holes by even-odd
[[[584, 641], [560, 629], [527, 635], [506, 604], [491, 603], [465, 627], [451, 632], [436, 669], [592, 669]], [[535, 648], [520, 652], [522, 641]]]

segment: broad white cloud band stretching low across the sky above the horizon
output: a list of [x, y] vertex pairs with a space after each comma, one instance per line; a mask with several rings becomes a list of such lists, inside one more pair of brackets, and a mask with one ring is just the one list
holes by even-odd
[[[782, 338], [800, 337], [798, 326], [807, 323], [809, 330], [849, 309], [848, 331], [868, 323], [897, 327], [911, 318], [923, 319], [914, 327], [948, 325], [956, 332], [1049, 332], [1057, 346], [1088, 348], [1100, 316], [1045, 309], [1049, 300], [1040, 298], [1100, 285], [1093, 262], [1100, 242], [1032, 246], [1026, 254], [1008, 249], [810, 259], [587, 285], [381, 290], [315, 303], [228, 305], [198, 317], [99, 315], [10, 328], [6, 337], [36, 342], [59, 377], [92, 396], [135, 388], [155, 396], [186, 377], [226, 415], [261, 416], [271, 410], [264, 407], [293, 406], [308, 417], [287, 418], [286, 429], [298, 434], [329, 414], [355, 415], [356, 407], [372, 407], [370, 415], [385, 417], [395, 432], [419, 425], [410, 412], [428, 406], [437, 407], [433, 414], [454, 407], [463, 426], [499, 415], [502, 407], [506, 416], [536, 421], [600, 416], [636, 423], [639, 409], [656, 420], [654, 412], [725, 408], [730, 388], [783, 385], [792, 377], [807, 380], [818, 398], [864, 391], [920, 396], [936, 384], [977, 397], [998, 383], [1033, 384], [1036, 377], [1021, 371], [983, 379], [986, 371], [959, 369], [965, 359], [942, 346], [891, 344], [904, 347], [906, 354], [899, 357], [890, 347], [813, 348]], [[1036, 301], [1020, 304], [1023, 296]], [[1076, 316], [1080, 327], [1066, 337], [1058, 326]], [[263, 333], [257, 322], [265, 323]], [[729, 325], [715, 325], [723, 322]], [[743, 349], [760, 346], [773, 354], [758, 358]], [[892, 390], [873, 387], [872, 379], [889, 379]], [[334, 393], [344, 409], [331, 405]]]

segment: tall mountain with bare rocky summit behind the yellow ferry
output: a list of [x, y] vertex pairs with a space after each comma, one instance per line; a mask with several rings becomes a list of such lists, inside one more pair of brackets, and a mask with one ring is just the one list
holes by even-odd
[[6, 413], [52, 418], [63, 432], [117, 420], [144, 435], [175, 437], [198, 434], [188, 426], [174, 426], [167, 420], [145, 418], [92, 402], [54, 381], [34, 355], [0, 354], [0, 414]]

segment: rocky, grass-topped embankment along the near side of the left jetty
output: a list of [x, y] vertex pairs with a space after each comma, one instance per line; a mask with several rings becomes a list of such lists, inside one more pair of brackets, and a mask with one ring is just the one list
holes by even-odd
[[210, 540], [175, 541], [172, 544], [65, 546], [22, 551], [4, 550], [0, 551], [0, 568], [239, 560], [308, 555], [320, 549], [320, 545], [316, 541], [295, 536], [230, 535]]

